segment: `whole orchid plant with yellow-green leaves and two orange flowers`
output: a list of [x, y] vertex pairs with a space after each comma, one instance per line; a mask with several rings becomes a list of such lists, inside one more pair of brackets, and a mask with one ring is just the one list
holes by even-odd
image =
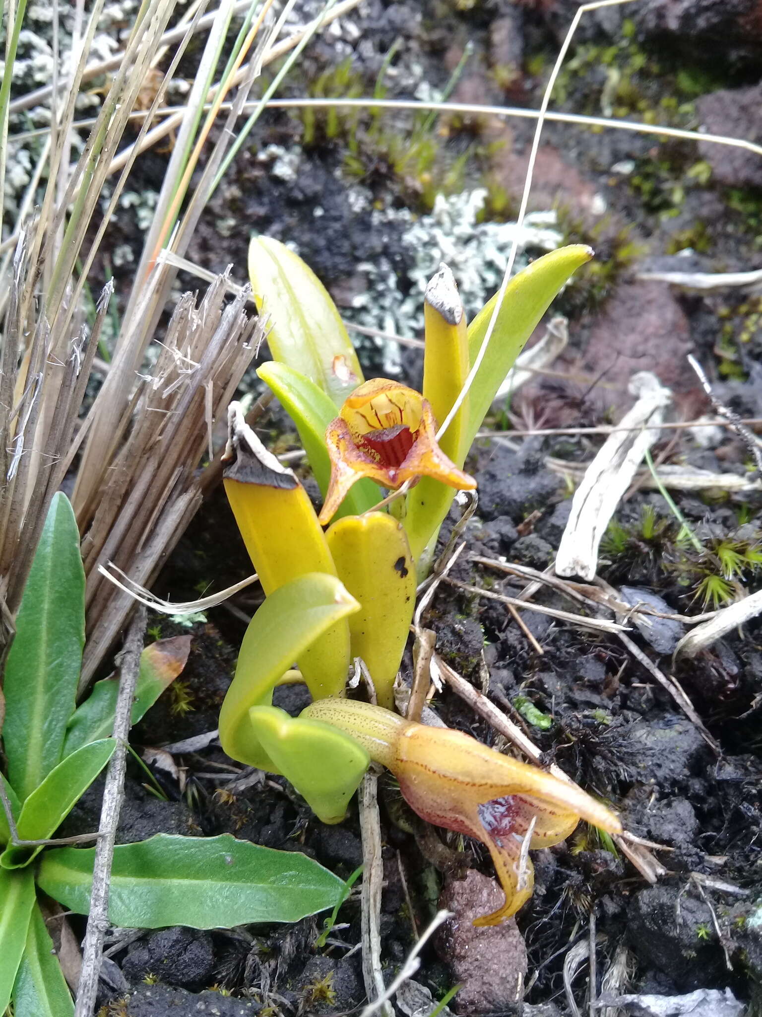
[[[296, 474], [233, 404], [225, 486], [266, 599], [223, 704], [223, 746], [284, 775], [327, 823], [344, 817], [371, 760], [386, 766], [419, 815], [489, 848], [505, 904], [481, 923], [512, 915], [530, 895], [529, 847], [563, 840], [580, 817], [613, 833], [619, 820], [536, 767], [405, 720], [394, 712], [393, 686], [440, 526], [455, 492], [475, 487], [463, 466], [477, 431], [551, 301], [591, 253], [562, 248], [519, 273], [484, 351], [495, 298], [467, 325], [442, 265], [425, 294], [418, 393], [365, 381], [314, 274], [277, 241], [255, 238], [250, 247], [274, 357], [258, 374], [294, 420], [324, 500], [316, 514]], [[353, 658], [366, 665], [378, 705], [343, 698]], [[274, 686], [291, 680], [304, 680], [313, 698], [297, 718], [272, 706]]]

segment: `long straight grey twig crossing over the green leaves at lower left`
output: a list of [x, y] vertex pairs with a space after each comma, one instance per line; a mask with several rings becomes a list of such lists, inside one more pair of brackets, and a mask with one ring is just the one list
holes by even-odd
[[127, 632], [124, 649], [118, 658], [119, 695], [114, 716], [114, 738], [117, 746], [106, 773], [104, 800], [101, 807], [101, 839], [96, 847], [92, 868], [92, 890], [87, 931], [82, 949], [82, 973], [77, 988], [74, 1017], [91, 1017], [98, 994], [104, 939], [109, 928], [109, 889], [114, 842], [119, 826], [119, 814], [124, 797], [127, 738], [132, 725], [132, 701], [140, 670], [140, 654], [146, 625], [146, 611], [139, 607]]

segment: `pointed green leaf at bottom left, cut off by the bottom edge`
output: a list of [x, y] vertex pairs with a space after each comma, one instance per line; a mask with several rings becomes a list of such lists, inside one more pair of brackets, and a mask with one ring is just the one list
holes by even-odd
[[73, 1017], [74, 1004], [40, 908], [31, 909], [26, 947], [13, 985], [13, 1017]]

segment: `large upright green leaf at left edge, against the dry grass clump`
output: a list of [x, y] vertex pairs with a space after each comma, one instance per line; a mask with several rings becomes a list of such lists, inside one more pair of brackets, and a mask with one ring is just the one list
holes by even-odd
[[68, 498], [57, 493], [35, 554], [5, 669], [8, 780], [23, 801], [61, 761], [84, 645], [84, 570]]

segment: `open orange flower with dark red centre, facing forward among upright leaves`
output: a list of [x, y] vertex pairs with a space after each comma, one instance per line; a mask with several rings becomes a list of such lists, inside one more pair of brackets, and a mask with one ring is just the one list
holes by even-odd
[[330, 521], [362, 477], [390, 490], [420, 477], [472, 490], [477, 482], [445, 456], [436, 434], [431, 406], [414, 388], [386, 378], [361, 384], [325, 432], [331, 477], [320, 522]]

